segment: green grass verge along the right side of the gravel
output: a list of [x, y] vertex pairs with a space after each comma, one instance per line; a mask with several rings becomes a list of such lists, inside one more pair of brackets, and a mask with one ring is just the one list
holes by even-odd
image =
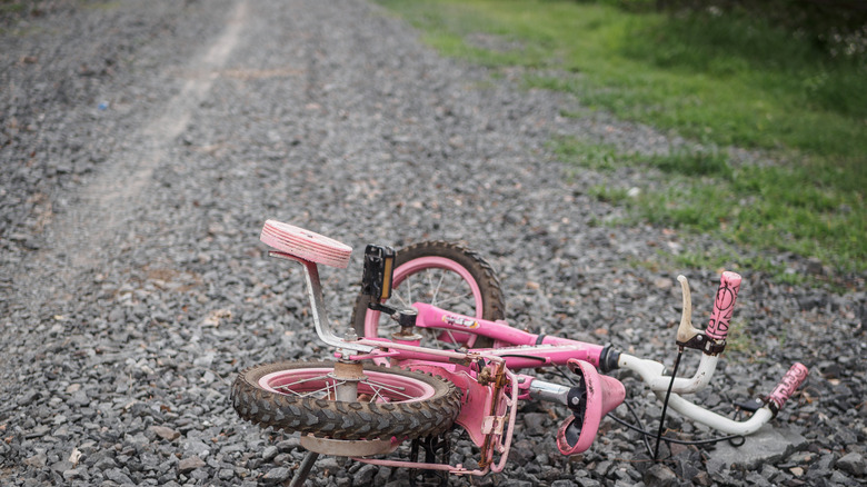
[[[668, 180], [638, 198], [591, 188], [597, 198], [655, 225], [714, 233], [733, 248], [816, 257], [844, 274], [867, 270], [866, 59], [831, 57], [738, 14], [667, 16], [574, 0], [380, 3], [446, 56], [495, 72], [522, 67], [527, 87], [575, 93], [590, 110], [704, 148], [635, 156], [577, 138], [554, 141], [555, 152], [579, 167], [645, 166]], [[734, 163], [729, 146], [766, 161]]]

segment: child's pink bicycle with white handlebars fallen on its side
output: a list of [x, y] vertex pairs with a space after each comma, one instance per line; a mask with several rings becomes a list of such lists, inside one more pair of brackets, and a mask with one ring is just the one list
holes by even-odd
[[[397, 256], [389, 247], [368, 246], [353, 329], [338, 336], [326, 317], [318, 265], [346, 268], [351, 249], [273, 220], [265, 223], [261, 240], [273, 248], [271, 256], [302, 265], [316, 331], [336, 350], [332, 361], [253, 366], [232, 384], [232, 405], [241, 418], [301, 435], [309, 454], [291, 485], [303, 484], [320, 454], [457, 475], [499, 471], [508, 459], [517, 406], [526, 400], [567, 407], [571, 415], [557, 431], [557, 448], [564, 455], [585, 451], [601, 419], [626, 396], [620, 381], [599, 371], [634, 371], [662, 400], [662, 418], [671, 408], [729, 435], [722, 439], [758, 430], [807, 377], [804, 365], [791, 366], [769, 395], [747, 407], [753, 414], [746, 420], [721, 416], [681, 396], [708, 385], [726, 347], [740, 287], [740, 276], [734, 272], [722, 274], [704, 331], [691, 325], [689, 286], [678, 277], [684, 292], [678, 357], [666, 375], [661, 362], [610, 345], [510, 327], [502, 320], [502, 295], [490, 266], [446, 242], [419, 244]], [[436, 340], [438, 346], [421, 346], [425, 340]], [[691, 377], [676, 377], [687, 348], [701, 354], [697, 370]], [[572, 372], [568, 385], [516, 372], [560, 366]], [[476, 466], [437, 461], [434, 451], [444, 445], [440, 450], [448, 451], [445, 434], [455, 426], [478, 447]], [[408, 459], [388, 457], [407, 440], [411, 441]], [[426, 453], [425, 461], [418, 459], [419, 448]]]

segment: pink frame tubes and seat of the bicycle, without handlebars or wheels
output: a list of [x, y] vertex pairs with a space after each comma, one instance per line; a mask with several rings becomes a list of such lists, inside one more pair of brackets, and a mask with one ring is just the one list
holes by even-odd
[[[468, 470], [464, 466], [408, 464], [392, 460], [362, 459], [361, 461], [387, 466], [402, 465], [442, 469], [452, 474], [481, 475], [487, 471], [488, 467], [494, 471], [499, 471], [505, 466], [511, 444], [517, 401], [541, 398], [567, 405], [567, 396], [570, 390], [569, 387], [538, 380], [531, 376], [517, 376], [510, 369], [568, 365], [572, 370], [581, 370], [579, 374], [584, 377], [582, 380], [588, 394], [585, 427], [579, 441], [575, 445], [568, 445], [566, 439], [560, 438], [560, 436], [569, 427], [574, 417], [569, 417], [564, 423], [558, 434], [557, 446], [565, 455], [572, 455], [589, 448], [596, 437], [601, 418], [624, 400], [622, 385], [614, 378], [602, 378], [596, 371], [596, 365], [600, 362], [605, 347], [555, 337], [551, 337], [549, 344], [545, 344], [545, 337], [540, 338], [538, 335], [515, 330], [502, 322], [472, 320], [469, 317], [450, 314], [423, 304], [416, 304], [416, 306], [425, 310], [425, 318], [417, 319], [416, 326], [419, 326], [419, 321], [423, 324], [425, 319], [435, 319], [436, 324], [446, 321], [449, 324], [448, 326], [471, 322], [475, 326], [474, 330], [485, 330], [494, 338], [524, 341], [529, 345], [448, 351], [420, 347], [418, 336], [411, 340], [377, 338], [355, 341], [353, 344], [375, 346], [378, 349], [366, 355], [352, 355], [349, 357], [350, 359], [388, 358], [401, 367], [441, 376], [455, 384], [461, 390], [464, 398], [460, 414], [455, 423], [462, 426], [470, 439], [481, 449], [481, 459], [479, 460], [481, 470]], [[541, 341], [542, 345], [532, 345], [538, 341]], [[481, 365], [478, 365], [480, 361]], [[488, 372], [488, 378], [482, 380], [484, 371]], [[508, 380], [504, 380], [504, 378], [508, 378]], [[494, 463], [495, 453], [501, 455], [500, 461], [497, 464]]]

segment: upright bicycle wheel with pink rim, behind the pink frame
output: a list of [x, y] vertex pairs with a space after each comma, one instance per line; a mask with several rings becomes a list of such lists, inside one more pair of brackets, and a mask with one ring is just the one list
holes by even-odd
[[[488, 320], [502, 319], [506, 305], [500, 282], [490, 265], [478, 254], [458, 244], [423, 241], [397, 251], [389, 304], [409, 307], [426, 302], [461, 315]], [[352, 309], [352, 326], [360, 337], [390, 338], [397, 324], [368, 309], [370, 297], [359, 295]], [[485, 348], [488, 337], [427, 328], [430, 342], [449, 348]], [[423, 344], [422, 344], [423, 345]]]

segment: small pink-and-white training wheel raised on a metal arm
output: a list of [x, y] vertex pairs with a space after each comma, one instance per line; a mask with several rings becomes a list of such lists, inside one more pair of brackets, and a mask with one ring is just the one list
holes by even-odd
[[352, 248], [303, 228], [277, 220], [268, 220], [259, 240], [276, 250], [302, 260], [346, 269]]

